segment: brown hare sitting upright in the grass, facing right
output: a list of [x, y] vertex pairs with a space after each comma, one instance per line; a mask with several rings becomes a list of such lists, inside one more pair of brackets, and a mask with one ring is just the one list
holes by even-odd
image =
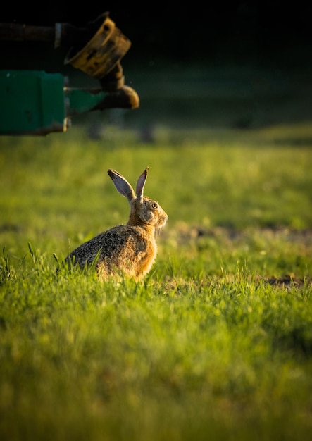
[[158, 202], [143, 196], [148, 169], [137, 180], [136, 194], [123, 175], [108, 170], [116, 190], [130, 204], [127, 224], [117, 225], [80, 245], [66, 257], [66, 263], [81, 268], [94, 264], [100, 280], [123, 275], [139, 281], [149, 273], [157, 254], [155, 230], [166, 225], [168, 216]]

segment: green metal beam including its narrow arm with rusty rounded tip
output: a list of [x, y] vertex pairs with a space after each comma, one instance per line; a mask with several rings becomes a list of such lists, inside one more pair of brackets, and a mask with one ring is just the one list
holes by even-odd
[[87, 111], [136, 108], [137, 93], [123, 86], [112, 92], [64, 86], [61, 73], [0, 70], [0, 135], [64, 132], [69, 118]]

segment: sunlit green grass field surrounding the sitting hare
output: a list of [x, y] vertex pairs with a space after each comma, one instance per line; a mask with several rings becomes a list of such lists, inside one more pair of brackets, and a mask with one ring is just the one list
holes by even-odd
[[[1, 440], [311, 439], [311, 131], [2, 138]], [[106, 170], [145, 166], [169, 221], [144, 282], [56, 274], [126, 221]]]

